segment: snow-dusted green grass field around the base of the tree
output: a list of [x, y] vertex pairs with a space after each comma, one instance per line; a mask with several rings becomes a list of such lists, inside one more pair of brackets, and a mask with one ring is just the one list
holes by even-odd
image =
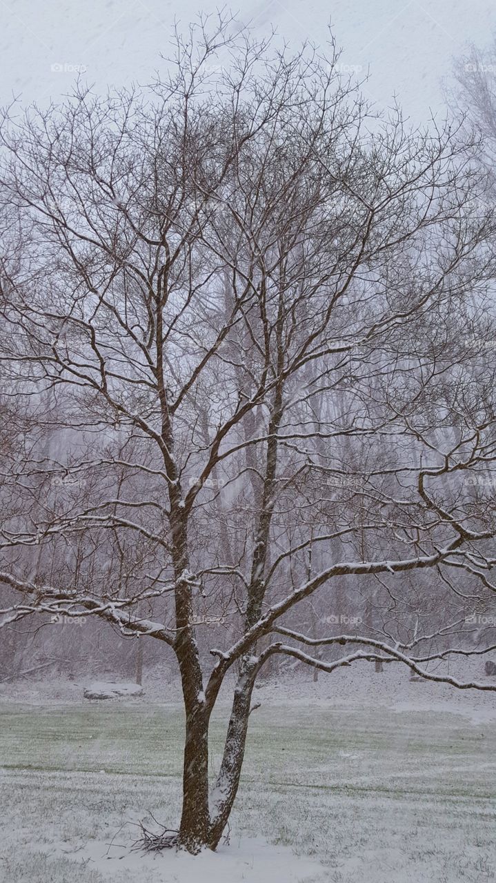
[[[147, 859], [138, 872], [139, 857], [132, 865], [101, 858], [113, 837], [129, 846], [137, 829], [119, 829], [150, 811], [176, 826], [182, 728], [179, 706], [140, 700], [2, 702], [0, 879], [189, 881], [170, 854]], [[214, 772], [219, 717], [212, 735]], [[252, 715], [231, 843], [261, 836], [323, 863], [310, 877], [302, 863], [294, 879], [484, 883], [496, 879], [495, 796], [494, 721], [288, 700]], [[110, 855], [116, 849], [124, 854], [114, 847]], [[220, 869], [212, 879], [223, 883]], [[239, 879], [256, 879], [250, 872], [247, 864]]]

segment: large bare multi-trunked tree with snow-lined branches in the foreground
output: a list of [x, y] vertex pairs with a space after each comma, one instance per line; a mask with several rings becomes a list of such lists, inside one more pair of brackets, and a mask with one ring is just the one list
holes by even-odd
[[32, 422], [3, 461], [0, 624], [97, 615], [175, 654], [167, 842], [191, 852], [229, 819], [267, 660], [494, 689], [426, 671], [424, 633], [298, 628], [343, 581], [406, 597], [429, 570], [470, 610], [494, 591], [492, 495], [468, 482], [496, 458], [492, 217], [467, 211], [466, 145], [373, 117], [336, 59], [221, 19], [149, 89], [78, 87], [1, 129], [0, 358]]

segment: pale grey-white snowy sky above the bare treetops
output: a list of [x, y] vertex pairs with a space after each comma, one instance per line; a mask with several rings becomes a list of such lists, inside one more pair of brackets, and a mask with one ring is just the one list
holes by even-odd
[[[71, 86], [74, 68], [98, 88], [132, 79], [147, 82], [167, 53], [175, 16], [187, 25], [214, 0], [0, 0], [0, 102], [12, 93], [44, 104]], [[221, 2], [222, 5], [222, 2]], [[271, 24], [296, 45], [322, 42], [332, 19], [342, 64], [365, 72], [370, 97], [382, 105], [398, 96], [412, 122], [442, 113], [440, 80], [466, 42], [484, 46], [496, 32], [494, 0], [245, 0], [232, 4], [258, 35]], [[63, 70], [52, 70], [52, 65]], [[162, 63], [163, 64], [163, 63]]]

